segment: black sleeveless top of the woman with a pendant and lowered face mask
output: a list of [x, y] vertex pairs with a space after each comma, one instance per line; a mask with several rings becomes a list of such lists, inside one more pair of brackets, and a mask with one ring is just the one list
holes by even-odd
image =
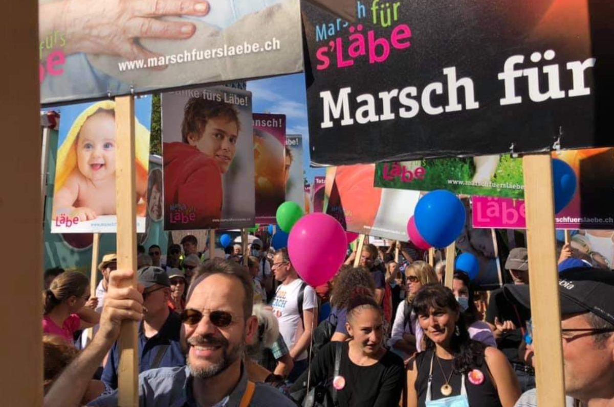
[[[424, 352], [420, 352], [418, 356], [416, 356], [418, 377], [416, 378], [416, 384], [414, 387], [416, 387], [416, 393], [418, 394], [418, 407], [424, 407], [426, 405], [426, 392], [429, 385], [430, 360], [432, 356], [432, 349], [427, 349]], [[439, 363], [437, 363], [437, 359], [441, 363], [441, 367]], [[441, 394], [441, 386], [443, 386], [443, 384], [446, 382], [443, 374], [445, 373], [447, 379], [453, 370], [453, 363], [453, 360], [439, 359], [437, 356], [435, 356], [435, 359], [433, 359], [433, 382], [430, 387], [431, 400], [438, 400], [440, 398], [452, 397], [461, 394], [462, 376], [461, 373], [457, 373], [456, 371], [452, 373], [449, 381], [450, 386], [452, 386], [452, 394], [450, 396]], [[494, 386], [494, 382], [492, 381], [483, 355], [480, 358], [480, 363], [478, 363], [476, 368], [483, 373], [484, 382], [481, 384], [472, 384], [467, 376], [465, 376], [465, 389], [467, 389], [467, 399], [469, 401], [469, 405], [476, 407], [501, 407], [499, 394]], [[443, 373], [441, 371], [442, 369]]]

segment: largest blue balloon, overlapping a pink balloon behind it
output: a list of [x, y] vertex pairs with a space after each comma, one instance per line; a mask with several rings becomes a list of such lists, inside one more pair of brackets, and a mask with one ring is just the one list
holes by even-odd
[[416, 230], [429, 245], [445, 248], [461, 235], [465, 226], [465, 205], [452, 192], [438, 189], [418, 200]]

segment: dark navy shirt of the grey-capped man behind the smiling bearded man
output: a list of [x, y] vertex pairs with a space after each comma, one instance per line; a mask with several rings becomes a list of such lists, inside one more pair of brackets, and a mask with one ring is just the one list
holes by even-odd
[[[151, 338], [145, 336], [141, 324], [138, 340], [139, 372], [158, 367], [185, 366], [185, 356], [181, 351], [181, 342], [179, 340], [180, 332], [181, 319], [179, 319], [179, 315], [173, 311], [170, 311], [160, 331]], [[166, 346], [166, 351], [162, 349], [161, 346]], [[157, 366], [152, 366], [154, 360], [158, 356], [158, 352], [164, 352], [163, 356]], [[104, 365], [103, 375], [101, 377], [101, 380], [109, 389], [117, 389], [119, 354], [119, 344], [116, 342], [111, 348], [109, 359], [107, 359], [107, 364]]]

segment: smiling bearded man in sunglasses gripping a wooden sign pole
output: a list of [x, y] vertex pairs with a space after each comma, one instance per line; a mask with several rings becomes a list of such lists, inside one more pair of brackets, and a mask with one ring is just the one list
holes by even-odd
[[[101, 316], [101, 330], [45, 395], [45, 407], [79, 405], [96, 365], [119, 337], [123, 321], [140, 321], [142, 297], [121, 288], [132, 278], [120, 270], [111, 278], [109, 301]], [[182, 313], [187, 341], [187, 367], [159, 368], [139, 375], [139, 406], [295, 407], [278, 390], [247, 379], [243, 350], [257, 335], [252, 316], [251, 277], [240, 265], [209, 262], [187, 295]], [[117, 406], [117, 392], [92, 401], [90, 406]]]

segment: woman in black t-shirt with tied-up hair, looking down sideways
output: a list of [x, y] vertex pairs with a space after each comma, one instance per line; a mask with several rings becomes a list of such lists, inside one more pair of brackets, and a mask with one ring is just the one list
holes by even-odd
[[[383, 346], [384, 315], [373, 297], [352, 297], [346, 329], [349, 341], [327, 343], [317, 353], [309, 387], [325, 386], [338, 407], [398, 405], [405, 380], [403, 360]], [[308, 374], [298, 378], [291, 394], [306, 389]]]

